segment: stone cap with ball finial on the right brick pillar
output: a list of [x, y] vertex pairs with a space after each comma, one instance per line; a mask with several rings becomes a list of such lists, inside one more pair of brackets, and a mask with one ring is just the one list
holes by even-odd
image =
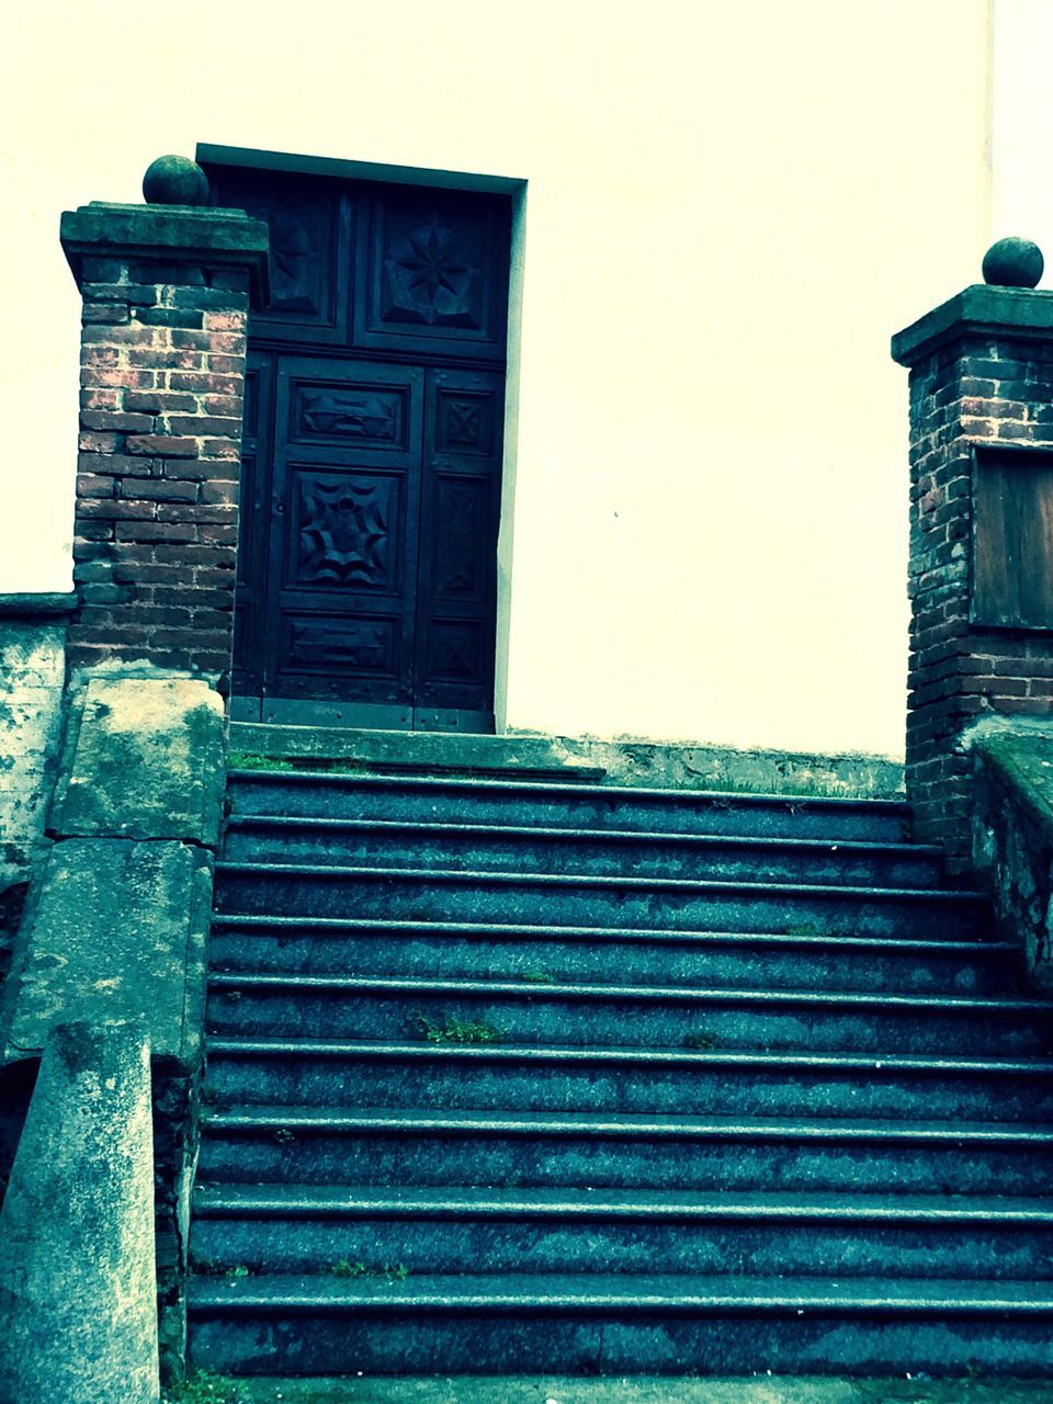
[[1000, 239], [983, 261], [984, 282], [963, 288], [892, 338], [892, 358], [914, 366], [963, 337], [1049, 340], [1053, 292], [1038, 292], [1043, 258], [1029, 239]]

